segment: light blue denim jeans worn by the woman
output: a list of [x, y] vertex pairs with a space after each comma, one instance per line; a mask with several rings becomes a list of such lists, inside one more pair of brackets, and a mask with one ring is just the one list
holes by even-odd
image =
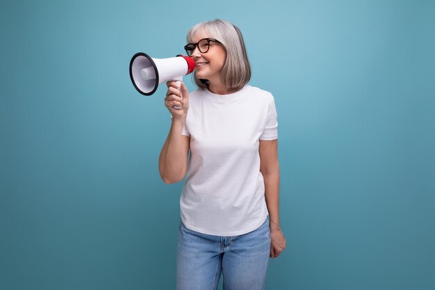
[[215, 290], [222, 273], [225, 290], [264, 289], [270, 256], [268, 218], [240, 236], [212, 236], [180, 223], [178, 290]]

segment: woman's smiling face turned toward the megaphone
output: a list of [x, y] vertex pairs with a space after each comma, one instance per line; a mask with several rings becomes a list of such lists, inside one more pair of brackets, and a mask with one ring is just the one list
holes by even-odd
[[[211, 38], [206, 34], [197, 34], [192, 39], [193, 43], [199, 42], [203, 38]], [[195, 73], [198, 79], [208, 79], [210, 83], [220, 83], [220, 73], [227, 59], [227, 51], [218, 42], [210, 42], [210, 47], [206, 53], [202, 53], [196, 47], [192, 52], [195, 60]]]

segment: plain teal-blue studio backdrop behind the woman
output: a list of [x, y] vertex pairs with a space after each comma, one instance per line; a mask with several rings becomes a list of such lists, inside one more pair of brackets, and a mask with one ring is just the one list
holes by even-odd
[[[158, 154], [165, 88], [220, 17], [279, 115], [288, 248], [266, 289], [435, 289], [434, 1], [0, 4], [0, 289], [174, 289], [179, 194]], [[185, 77], [190, 90], [190, 76]]]

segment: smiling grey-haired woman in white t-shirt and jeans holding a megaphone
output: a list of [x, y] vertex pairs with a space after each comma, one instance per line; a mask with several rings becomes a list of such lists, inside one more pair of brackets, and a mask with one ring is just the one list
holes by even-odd
[[274, 98], [247, 85], [251, 68], [238, 27], [199, 23], [187, 40], [199, 88], [189, 93], [167, 82], [172, 124], [159, 158], [165, 183], [186, 175], [177, 288], [216, 289], [222, 273], [224, 289], [264, 289], [269, 257], [286, 247]]

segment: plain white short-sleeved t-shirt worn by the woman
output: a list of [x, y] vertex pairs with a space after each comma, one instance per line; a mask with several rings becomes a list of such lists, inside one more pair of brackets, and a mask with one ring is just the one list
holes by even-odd
[[238, 236], [264, 223], [268, 209], [258, 145], [277, 139], [277, 127], [270, 92], [248, 85], [229, 95], [190, 92], [182, 133], [190, 136], [190, 160], [180, 198], [188, 229]]

